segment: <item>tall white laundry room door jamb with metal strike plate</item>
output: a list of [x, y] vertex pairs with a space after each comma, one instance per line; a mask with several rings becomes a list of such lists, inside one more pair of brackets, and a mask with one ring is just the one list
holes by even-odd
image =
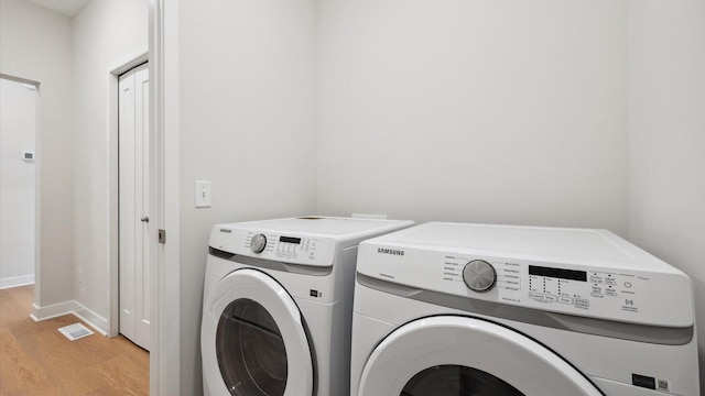
[[[152, 272], [150, 395], [181, 394], [181, 243], [178, 0], [150, 0], [150, 133], [154, 145], [156, 194], [152, 211], [165, 242]], [[165, 326], [174, 323], [174, 326]]]

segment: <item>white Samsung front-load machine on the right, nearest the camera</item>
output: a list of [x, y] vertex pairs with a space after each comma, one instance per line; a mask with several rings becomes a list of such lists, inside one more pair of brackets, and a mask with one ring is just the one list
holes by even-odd
[[413, 227], [359, 246], [351, 395], [699, 395], [693, 306], [605, 230]]

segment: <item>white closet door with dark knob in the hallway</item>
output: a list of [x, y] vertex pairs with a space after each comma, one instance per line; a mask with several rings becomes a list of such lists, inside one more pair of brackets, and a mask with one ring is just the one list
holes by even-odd
[[150, 348], [149, 69], [119, 80], [120, 333]]

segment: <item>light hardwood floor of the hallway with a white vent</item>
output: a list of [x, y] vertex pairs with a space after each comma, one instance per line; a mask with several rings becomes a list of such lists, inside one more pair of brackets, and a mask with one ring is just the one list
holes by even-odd
[[80, 320], [35, 322], [33, 294], [33, 286], [0, 290], [1, 396], [149, 395], [149, 352], [122, 336], [69, 341], [57, 329]]

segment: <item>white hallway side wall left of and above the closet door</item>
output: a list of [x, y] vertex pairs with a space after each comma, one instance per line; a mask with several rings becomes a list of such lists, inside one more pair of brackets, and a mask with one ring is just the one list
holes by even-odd
[[[93, 0], [73, 20], [75, 101], [75, 299], [106, 320], [110, 315], [111, 158], [110, 73], [148, 52], [147, 0]], [[113, 92], [117, 97], [117, 92]], [[104, 329], [104, 330], [107, 330]]]

